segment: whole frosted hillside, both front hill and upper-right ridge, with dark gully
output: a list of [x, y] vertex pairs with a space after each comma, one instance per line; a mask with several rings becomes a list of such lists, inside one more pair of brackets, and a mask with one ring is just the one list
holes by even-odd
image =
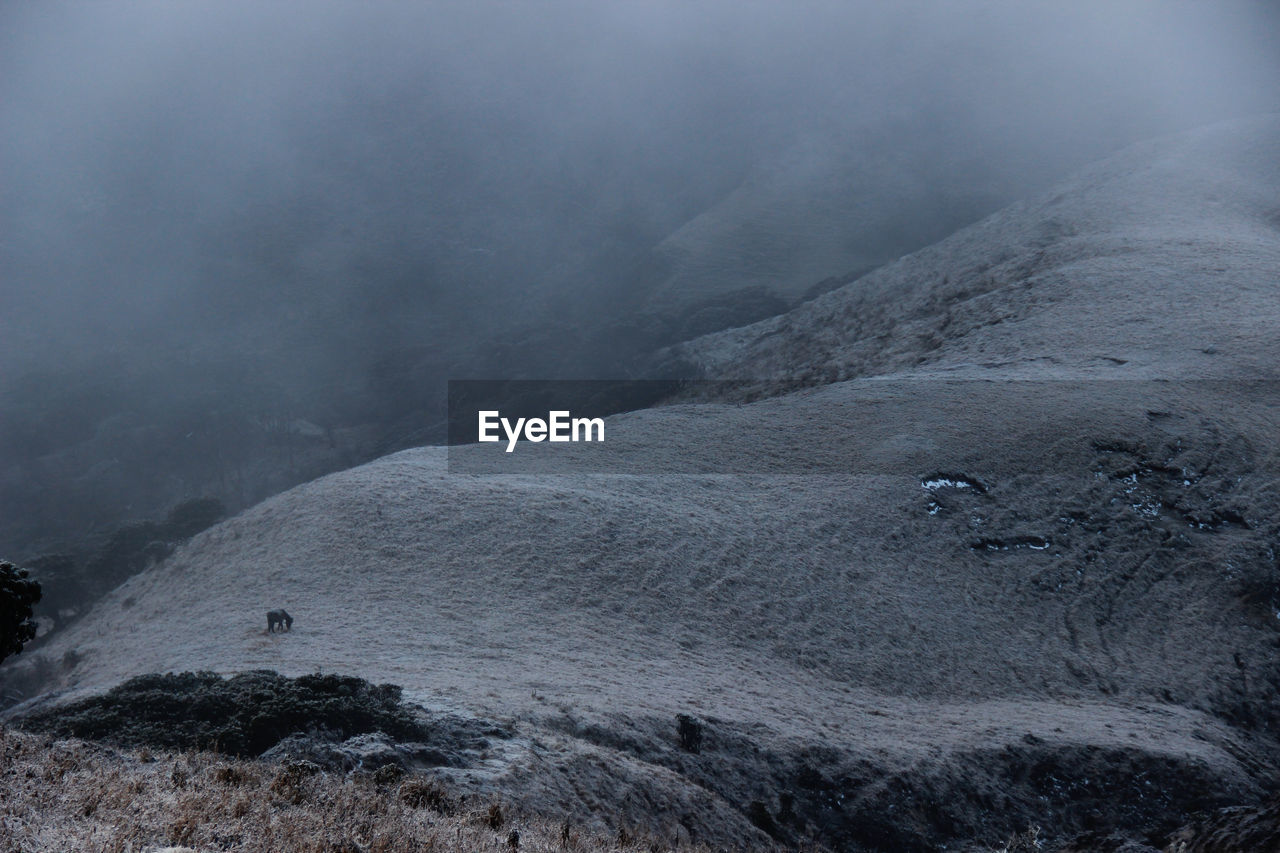
[[[1280, 762], [1277, 152], [1274, 119], [1138, 146], [694, 342], [773, 396], [612, 418], [613, 473], [421, 448], [271, 498], [55, 637], [46, 701], [156, 670], [390, 680], [518, 733], [439, 772], [719, 845], [1155, 843], [1256, 799]], [[268, 635], [278, 606], [297, 621]]]

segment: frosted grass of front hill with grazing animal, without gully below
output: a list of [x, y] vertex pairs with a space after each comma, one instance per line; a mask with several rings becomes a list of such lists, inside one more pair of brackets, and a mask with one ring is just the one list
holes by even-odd
[[[493, 708], [540, 688], [575, 699], [627, 695], [663, 712], [701, 695], [708, 710], [776, 724], [812, 698], [795, 694], [795, 679], [829, 681], [837, 695], [1091, 695], [1112, 680], [1160, 693], [1170, 686], [1161, 667], [1176, 662], [1178, 692], [1203, 697], [1230, 658], [1211, 652], [1254, 630], [1229, 607], [1230, 573], [1152, 579], [1170, 602], [1194, 590], [1221, 611], [1188, 622], [1164, 610], [1169, 602], [1110, 598], [1117, 590], [1101, 567], [1076, 569], [1108, 537], [1128, 537], [1132, 549], [1129, 539], [1155, 544], [1172, 528], [1198, 553], [1248, 533], [1193, 529], [1219, 524], [1216, 511], [1265, 524], [1270, 503], [1249, 502], [1268, 498], [1231, 476], [1275, 467], [1265, 443], [1274, 400], [1224, 416], [1220, 388], [1197, 388], [1197, 402], [1181, 387], [1084, 391], [1087, 414], [1073, 410], [1075, 384], [1020, 387], [1011, 400], [1002, 387], [846, 383], [714, 407], [714, 426], [696, 423], [707, 406], [609, 421], [611, 433], [648, 437], [654, 470], [740, 455], [742, 466], [756, 456], [762, 470], [772, 466], [762, 475], [471, 476], [451, 474], [438, 448], [407, 451], [202, 534], [124, 584], [52, 651], [86, 656], [70, 678], [82, 685], [193, 666], [321, 666]], [[991, 415], [1006, 403], [1016, 411]], [[1174, 405], [1176, 415], [1146, 415]], [[762, 423], [767, 433], [753, 435]], [[1257, 450], [1204, 437], [1251, 423], [1242, 447]], [[669, 437], [673, 426], [684, 441]], [[1047, 426], [1051, 462], [1036, 441]], [[1100, 450], [1116, 435], [1134, 437], [1134, 448]], [[1132, 483], [1100, 474], [1155, 457], [1190, 479], [1143, 474], [1142, 493], [1170, 505], [1166, 517], [1148, 519]], [[841, 467], [850, 474], [831, 473]], [[964, 471], [986, 492], [922, 485], [957, 476], [934, 471]], [[1051, 547], [974, 547], [986, 539]], [[1064, 584], [1070, 592], [1059, 594]], [[1080, 612], [1085, 603], [1132, 612], [1094, 648], [1070, 637], [1073, 619], [1093, 617]], [[297, 617], [291, 635], [262, 635], [274, 606]], [[1108, 639], [1134, 648], [1114, 660], [1101, 648]], [[755, 707], [774, 690], [790, 698]], [[489, 702], [490, 692], [502, 702]]]

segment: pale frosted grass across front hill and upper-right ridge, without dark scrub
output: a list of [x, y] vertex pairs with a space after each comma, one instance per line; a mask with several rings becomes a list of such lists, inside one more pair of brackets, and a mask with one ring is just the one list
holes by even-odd
[[[989, 500], [988, 524], [1032, 496], [1043, 512], [1020, 523], [1057, 519], [1053, 496], [1075, 480], [1036, 491], [1021, 474], [1051, 460], [1053, 476], [1097, 484], [1091, 437], [1143, 429], [1148, 410], [1238, 411], [1275, 447], [1274, 419], [1213, 397], [1229, 389], [1051, 382], [1011, 400], [941, 380], [1274, 377], [1277, 199], [1276, 119], [1135, 146], [792, 314], [685, 347], [713, 374], [829, 368], [932, 378], [928, 393], [845, 382], [618, 416], [608, 434], [641, 469], [627, 474], [468, 476], [439, 448], [397, 453], [198, 535], [45, 653], [81, 654], [64, 697], [148, 671], [320, 669], [530, 724], [690, 712], [902, 766], [1034, 736], [1243, 777], [1233, 753], [1248, 749], [1192, 706], [1234, 678], [1224, 649], [1270, 634], [1228, 612], [1213, 575], [1087, 596], [1107, 553], [1087, 570], [1036, 546], [975, 553], [943, 526], [965, 515], [929, 498]], [[922, 494], [929, 471], [995, 487], [947, 476]], [[1051, 571], [1069, 592], [1036, 583]], [[273, 607], [291, 633], [265, 633]], [[1187, 701], [1155, 698], [1169, 689]]]

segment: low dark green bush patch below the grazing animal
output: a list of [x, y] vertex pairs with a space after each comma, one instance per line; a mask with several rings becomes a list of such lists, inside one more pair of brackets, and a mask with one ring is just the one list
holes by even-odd
[[123, 747], [212, 749], [260, 756], [296, 734], [333, 740], [384, 733], [426, 740], [429, 729], [394, 684], [346, 675], [285, 678], [270, 670], [142, 675], [65, 706], [24, 717], [23, 729]]

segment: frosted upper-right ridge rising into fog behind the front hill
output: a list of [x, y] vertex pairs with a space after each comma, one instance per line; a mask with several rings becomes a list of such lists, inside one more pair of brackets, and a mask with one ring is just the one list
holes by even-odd
[[[710, 377], [1276, 377], [1280, 117], [1143, 142], [795, 311], [677, 347]], [[1117, 368], [1123, 366], [1123, 371]]]

